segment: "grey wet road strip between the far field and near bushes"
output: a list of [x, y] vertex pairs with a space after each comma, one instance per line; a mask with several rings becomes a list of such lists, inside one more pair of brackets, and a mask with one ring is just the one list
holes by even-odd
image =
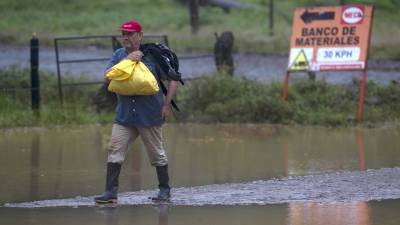
[[[28, 46], [10, 47], [0, 46], [0, 68], [22, 67], [29, 68], [30, 50]], [[107, 63], [111, 56], [110, 49], [65, 48], [60, 49], [59, 61], [79, 59], [104, 59], [98, 62], [86, 63], [61, 63], [59, 66], [61, 76], [85, 76], [91, 81], [101, 81]], [[201, 56], [199, 58], [193, 56]], [[212, 54], [178, 54], [180, 58], [180, 71], [184, 79], [193, 79], [203, 75], [211, 75], [216, 72]], [[50, 47], [40, 48], [39, 68], [43, 71], [57, 73], [55, 49]], [[235, 54], [235, 76], [244, 76], [249, 79], [269, 83], [283, 81], [286, 73], [287, 55], [261, 55], [261, 54]], [[395, 60], [370, 60], [367, 79], [381, 84], [400, 82], [400, 61]], [[293, 74], [293, 80], [307, 78], [306, 74]], [[361, 72], [319, 72], [318, 80], [330, 83], [346, 84], [354, 79], [361, 78]]]

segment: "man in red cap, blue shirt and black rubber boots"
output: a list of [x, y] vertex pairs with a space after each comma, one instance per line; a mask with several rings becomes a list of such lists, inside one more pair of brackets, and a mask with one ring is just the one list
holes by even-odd
[[[130, 144], [140, 136], [152, 166], [156, 168], [159, 192], [155, 201], [170, 199], [168, 160], [163, 147], [161, 126], [170, 112], [171, 101], [176, 93], [177, 81], [160, 74], [159, 62], [151, 54], [140, 51], [143, 38], [142, 26], [137, 21], [127, 21], [120, 27], [123, 48], [116, 50], [107, 72], [122, 59], [142, 61], [153, 75], [160, 80], [168, 80], [168, 91], [154, 95], [118, 95], [116, 116], [111, 132], [107, 158], [106, 191], [95, 198], [97, 204], [117, 203], [118, 177]], [[107, 74], [106, 72], [106, 74]], [[180, 79], [180, 78], [179, 78]], [[109, 82], [106, 78], [106, 82]], [[160, 85], [160, 83], [159, 83]]]

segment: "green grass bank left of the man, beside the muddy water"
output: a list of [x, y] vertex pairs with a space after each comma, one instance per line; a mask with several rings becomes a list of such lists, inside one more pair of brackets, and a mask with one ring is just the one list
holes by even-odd
[[[49, 126], [66, 124], [110, 123], [113, 113], [97, 113], [93, 105], [99, 86], [64, 87], [60, 104], [54, 74], [40, 72], [40, 116], [31, 109], [29, 71], [11, 68], [0, 70], [0, 127]], [[74, 82], [83, 78], [69, 78]], [[15, 88], [15, 89], [14, 89]]]

